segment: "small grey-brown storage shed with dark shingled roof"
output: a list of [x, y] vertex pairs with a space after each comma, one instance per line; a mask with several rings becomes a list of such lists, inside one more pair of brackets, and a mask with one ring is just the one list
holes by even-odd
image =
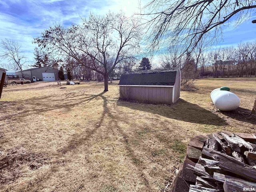
[[120, 98], [171, 104], [180, 98], [180, 68], [142, 70], [121, 75]]

